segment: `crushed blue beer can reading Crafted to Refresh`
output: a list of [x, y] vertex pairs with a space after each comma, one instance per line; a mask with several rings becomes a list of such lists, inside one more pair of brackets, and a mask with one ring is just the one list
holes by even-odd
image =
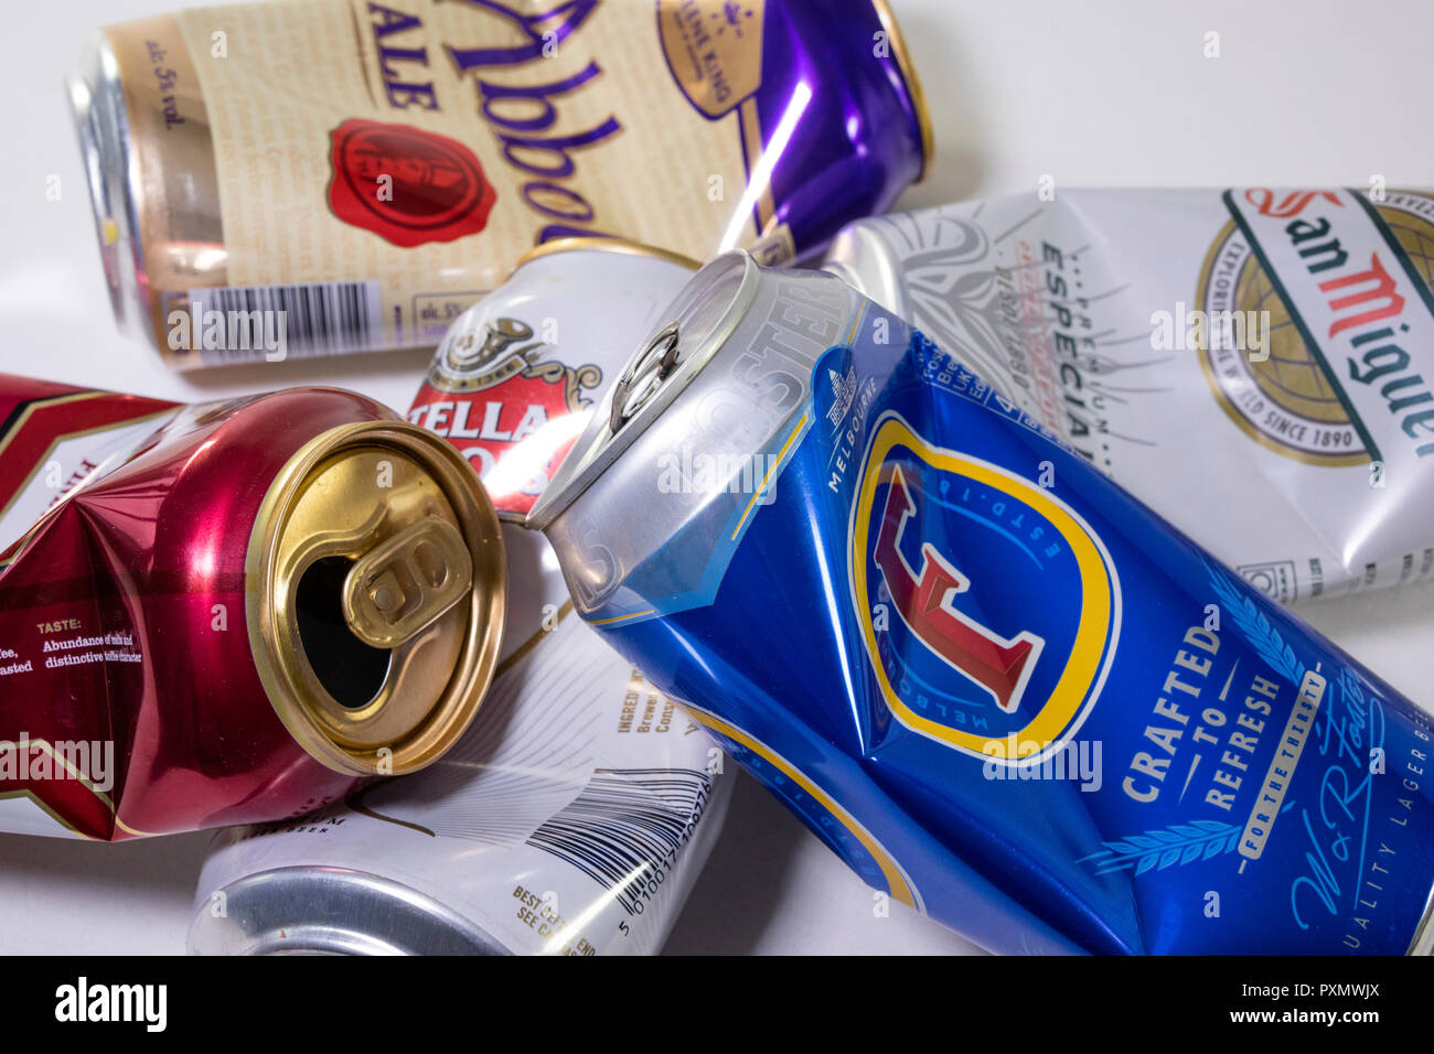
[[1427, 952], [1434, 718], [899, 315], [707, 265], [531, 513], [885, 896], [1001, 952]]

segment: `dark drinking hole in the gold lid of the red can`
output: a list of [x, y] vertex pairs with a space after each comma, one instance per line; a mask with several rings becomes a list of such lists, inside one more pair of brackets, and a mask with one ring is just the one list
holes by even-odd
[[354, 561], [323, 556], [298, 579], [294, 614], [308, 665], [334, 701], [348, 710], [369, 706], [389, 678], [393, 652], [358, 640], [344, 618], [344, 582]]

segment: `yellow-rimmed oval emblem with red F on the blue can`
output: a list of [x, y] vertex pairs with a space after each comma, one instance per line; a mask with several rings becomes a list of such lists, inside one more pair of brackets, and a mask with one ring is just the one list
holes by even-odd
[[1008, 763], [1044, 757], [1080, 728], [1120, 638], [1120, 579], [1096, 531], [1054, 493], [888, 413], [862, 463], [847, 564], [898, 723]]

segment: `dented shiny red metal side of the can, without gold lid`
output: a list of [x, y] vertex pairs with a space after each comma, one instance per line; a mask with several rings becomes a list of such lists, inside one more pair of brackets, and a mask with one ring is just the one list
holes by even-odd
[[[0, 422], [7, 393], [39, 397], [34, 383], [0, 376]], [[0, 779], [0, 796], [30, 794], [100, 839], [281, 819], [341, 797], [354, 777], [311, 759], [260, 684], [244, 559], [285, 462], [331, 427], [391, 417], [327, 389], [184, 410], [57, 505], [0, 571], [0, 648], [34, 665], [0, 678], [0, 740], [113, 740], [113, 789]], [[54, 628], [66, 619], [80, 627]], [[96, 651], [142, 661], [44, 665], [44, 640], [106, 634], [133, 644]]]

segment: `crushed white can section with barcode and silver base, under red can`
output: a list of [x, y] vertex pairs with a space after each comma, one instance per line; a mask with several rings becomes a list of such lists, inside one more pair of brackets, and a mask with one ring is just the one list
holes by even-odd
[[707, 733], [572, 615], [541, 535], [505, 529], [513, 602], [482, 713], [435, 766], [293, 823], [215, 836], [198, 954], [661, 949], [733, 774]]

